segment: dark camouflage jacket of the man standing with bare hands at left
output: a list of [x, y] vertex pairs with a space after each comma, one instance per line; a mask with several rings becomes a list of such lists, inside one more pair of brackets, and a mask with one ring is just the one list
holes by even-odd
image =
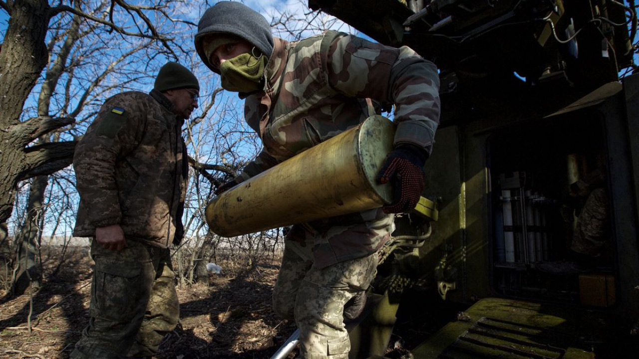
[[77, 144], [80, 194], [74, 236], [121, 225], [125, 236], [158, 247], [179, 243], [187, 186], [183, 120], [158, 91], [112, 96]]

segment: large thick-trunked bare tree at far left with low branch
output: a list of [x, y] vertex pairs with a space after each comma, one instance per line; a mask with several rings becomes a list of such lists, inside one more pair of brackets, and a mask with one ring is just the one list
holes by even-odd
[[[13, 210], [17, 183], [66, 167], [75, 148], [73, 140], [33, 144], [36, 139], [71, 125], [75, 121], [73, 117], [38, 114], [22, 118], [27, 98], [49, 63], [45, 40], [47, 34], [55, 35], [57, 31], [50, 26], [52, 20], [72, 13], [77, 19], [91, 20], [109, 33], [121, 35], [123, 40], [142, 38], [158, 43], [167, 56], [177, 57], [173, 49], [182, 49], [174, 43], [171, 29], [164, 31], [157, 26], [176, 22], [162, 2], [134, 6], [113, 0], [105, 2], [104, 11], [99, 13], [87, 10], [82, 0], [73, 1], [71, 6], [56, 4], [44, 0], [0, 0], [0, 8], [10, 15], [0, 50], [0, 93], [3, 94], [0, 96], [0, 240], [8, 236], [6, 220]], [[76, 23], [73, 20], [69, 26]]]

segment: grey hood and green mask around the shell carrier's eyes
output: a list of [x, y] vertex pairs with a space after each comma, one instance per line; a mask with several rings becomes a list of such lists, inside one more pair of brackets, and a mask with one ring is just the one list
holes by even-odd
[[[197, 54], [213, 72], [222, 76], [222, 87], [247, 93], [261, 88], [261, 77], [273, 53], [273, 34], [265, 17], [236, 1], [220, 1], [204, 12], [197, 25]], [[221, 45], [241, 38], [254, 45], [249, 54], [225, 61], [215, 68], [210, 54]]]

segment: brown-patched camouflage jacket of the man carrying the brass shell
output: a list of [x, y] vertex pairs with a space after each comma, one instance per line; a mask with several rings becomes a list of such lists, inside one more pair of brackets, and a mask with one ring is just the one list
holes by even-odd
[[[236, 181], [357, 126], [375, 113], [374, 103], [394, 105], [395, 144], [431, 151], [439, 123], [439, 77], [433, 63], [408, 47], [335, 31], [299, 42], [275, 38], [265, 79], [265, 90], [245, 100], [246, 121], [264, 148]], [[375, 252], [390, 237], [392, 219], [378, 208], [304, 224], [305, 231], [321, 236], [313, 244], [316, 265]]]

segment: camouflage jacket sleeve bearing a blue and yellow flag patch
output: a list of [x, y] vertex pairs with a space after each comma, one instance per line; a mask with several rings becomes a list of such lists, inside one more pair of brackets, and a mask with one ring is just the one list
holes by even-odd
[[144, 103], [127, 95], [109, 98], [77, 144], [73, 169], [89, 224], [122, 220], [115, 171], [116, 160], [135, 148], [144, 128]]

